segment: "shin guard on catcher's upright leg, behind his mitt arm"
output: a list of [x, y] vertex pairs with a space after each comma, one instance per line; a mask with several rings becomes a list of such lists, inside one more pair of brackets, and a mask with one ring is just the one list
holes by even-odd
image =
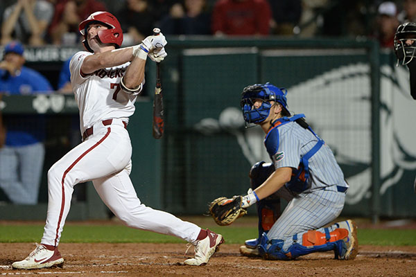
[[[272, 163], [265, 163], [259, 161], [254, 164], [250, 170], [250, 183], [252, 190], [255, 190], [275, 171], [275, 166]], [[261, 234], [268, 232], [277, 218], [280, 216], [280, 199], [278, 197], [267, 197], [256, 203], [257, 216], [259, 217], [259, 237], [257, 239], [246, 240], [245, 246], [250, 249], [257, 248], [260, 242]]]

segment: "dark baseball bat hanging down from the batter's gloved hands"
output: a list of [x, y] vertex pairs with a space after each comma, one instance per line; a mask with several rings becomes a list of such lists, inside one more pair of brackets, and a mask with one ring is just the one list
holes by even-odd
[[[153, 35], [159, 35], [160, 29], [154, 28]], [[153, 98], [153, 137], [160, 139], [164, 132], [164, 107], [162, 82], [160, 78], [160, 62], [156, 63], [156, 87], [155, 98]]]

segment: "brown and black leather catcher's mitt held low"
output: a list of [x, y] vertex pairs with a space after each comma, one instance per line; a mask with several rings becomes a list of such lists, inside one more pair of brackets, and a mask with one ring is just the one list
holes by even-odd
[[247, 213], [245, 208], [241, 208], [242, 196], [232, 198], [219, 197], [212, 201], [209, 206], [209, 213], [214, 218], [216, 224], [225, 226], [232, 224], [234, 220]]

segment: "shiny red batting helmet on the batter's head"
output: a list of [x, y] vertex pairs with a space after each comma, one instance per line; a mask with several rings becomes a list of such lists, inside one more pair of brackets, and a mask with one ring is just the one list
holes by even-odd
[[84, 36], [83, 44], [85, 48], [87, 48], [89, 52], [94, 52], [88, 45], [86, 32], [88, 25], [92, 24], [94, 21], [105, 24], [105, 26], [108, 27], [107, 30], [98, 31], [98, 37], [101, 42], [113, 43], [116, 44], [116, 48], [119, 48], [123, 42], [123, 30], [121, 30], [120, 22], [110, 12], [94, 12], [80, 23], [79, 30], [81, 35]]

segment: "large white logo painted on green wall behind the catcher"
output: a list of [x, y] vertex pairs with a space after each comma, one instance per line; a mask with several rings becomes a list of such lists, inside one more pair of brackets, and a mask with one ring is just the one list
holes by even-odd
[[[347, 204], [371, 197], [372, 136], [371, 80], [368, 64], [340, 66], [310, 80], [288, 87], [288, 107], [306, 120], [331, 147], [347, 173]], [[277, 84], [278, 85], [278, 84]], [[406, 170], [416, 170], [416, 101], [410, 97], [408, 72], [381, 67], [381, 188], [399, 184]], [[260, 127], [244, 129], [241, 109], [227, 107], [218, 120], [204, 118], [195, 128], [204, 134], [229, 132], [250, 164], [270, 161]], [[413, 183], [408, 184], [409, 188]]]

